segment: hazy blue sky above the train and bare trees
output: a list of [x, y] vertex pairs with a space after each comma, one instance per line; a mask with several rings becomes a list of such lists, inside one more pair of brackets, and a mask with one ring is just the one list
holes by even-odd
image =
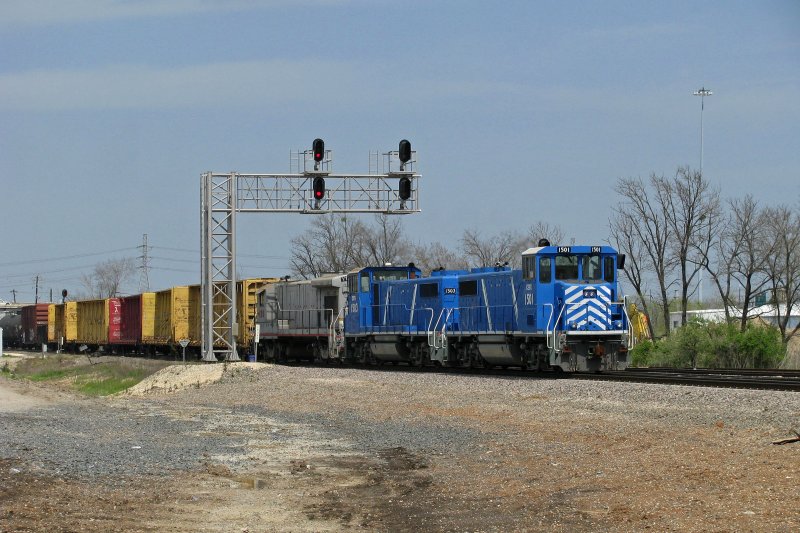
[[[800, 205], [797, 0], [1, 0], [0, 51], [7, 301], [143, 234], [152, 290], [199, 283], [201, 173], [285, 173], [316, 137], [354, 174], [411, 141], [417, 244], [603, 244], [617, 180], [699, 168], [701, 87], [706, 178]], [[240, 273], [288, 274], [314, 221], [239, 214]]]

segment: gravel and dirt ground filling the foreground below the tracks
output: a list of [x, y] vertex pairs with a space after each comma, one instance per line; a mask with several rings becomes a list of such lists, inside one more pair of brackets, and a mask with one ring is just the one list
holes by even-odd
[[0, 531], [800, 529], [791, 392], [231, 365], [0, 428]]

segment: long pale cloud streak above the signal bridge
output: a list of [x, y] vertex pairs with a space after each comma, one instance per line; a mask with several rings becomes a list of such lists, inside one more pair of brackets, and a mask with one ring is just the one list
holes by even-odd
[[409, 79], [376, 75], [346, 61], [268, 60], [185, 67], [111, 65], [0, 74], [0, 109], [263, 108], [291, 102], [364, 105], [519, 94], [513, 84], [481, 80]]

